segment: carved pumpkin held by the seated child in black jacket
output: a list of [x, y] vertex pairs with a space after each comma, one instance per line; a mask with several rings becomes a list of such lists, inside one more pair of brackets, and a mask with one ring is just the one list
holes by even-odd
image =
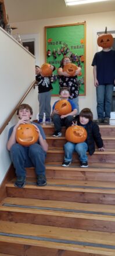
[[66, 130], [66, 140], [73, 143], [81, 143], [87, 139], [87, 131], [82, 126], [70, 126]]

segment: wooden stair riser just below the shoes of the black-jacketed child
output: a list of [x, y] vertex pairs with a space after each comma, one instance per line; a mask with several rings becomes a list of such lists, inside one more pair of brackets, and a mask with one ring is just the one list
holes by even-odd
[[[46, 170], [48, 179], [67, 179], [67, 180], [95, 180], [100, 182], [115, 182], [115, 172], [88, 172], [87, 168], [83, 172], [78, 170]], [[27, 169], [27, 177], [36, 177], [34, 169]]]

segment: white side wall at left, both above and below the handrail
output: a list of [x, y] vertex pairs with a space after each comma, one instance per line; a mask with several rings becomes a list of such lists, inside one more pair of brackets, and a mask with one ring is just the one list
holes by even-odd
[[[1, 127], [35, 80], [35, 58], [1, 28], [0, 38]], [[38, 111], [35, 101], [38, 102], [37, 89], [32, 89], [24, 102], [33, 107], [34, 113]], [[33, 118], [35, 119], [36, 115]], [[6, 150], [8, 131], [16, 122], [17, 117], [14, 115], [0, 136], [0, 184], [10, 165], [9, 152]]]

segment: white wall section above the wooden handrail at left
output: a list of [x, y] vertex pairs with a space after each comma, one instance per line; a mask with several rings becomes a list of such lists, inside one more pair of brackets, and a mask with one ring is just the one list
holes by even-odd
[[35, 80], [35, 58], [0, 29], [0, 127]]

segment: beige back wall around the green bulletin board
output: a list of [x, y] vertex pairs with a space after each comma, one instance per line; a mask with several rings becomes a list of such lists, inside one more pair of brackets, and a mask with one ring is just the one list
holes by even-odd
[[[72, 24], [77, 22], [86, 22], [86, 89], [87, 95], [80, 96], [80, 109], [84, 107], [89, 107], [94, 113], [94, 118], [96, 115], [96, 93], [94, 87], [94, 80], [92, 74], [92, 58], [94, 53], [97, 51], [96, 45], [96, 31], [104, 31], [105, 26], [107, 30], [115, 30], [115, 11], [107, 13], [93, 13], [91, 15], [80, 15], [80, 16], [69, 16], [69, 17], [59, 17], [55, 19], [43, 19], [43, 20], [33, 20], [32, 22], [20, 22], [15, 23], [18, 30], [15, 31], [20, 34], [39, 34], [39, 65], [45, 62], [45, 26], [55, 26], [59, 24]], [[56, 100], [56, 97], [52, 97], [52, 104]]]

